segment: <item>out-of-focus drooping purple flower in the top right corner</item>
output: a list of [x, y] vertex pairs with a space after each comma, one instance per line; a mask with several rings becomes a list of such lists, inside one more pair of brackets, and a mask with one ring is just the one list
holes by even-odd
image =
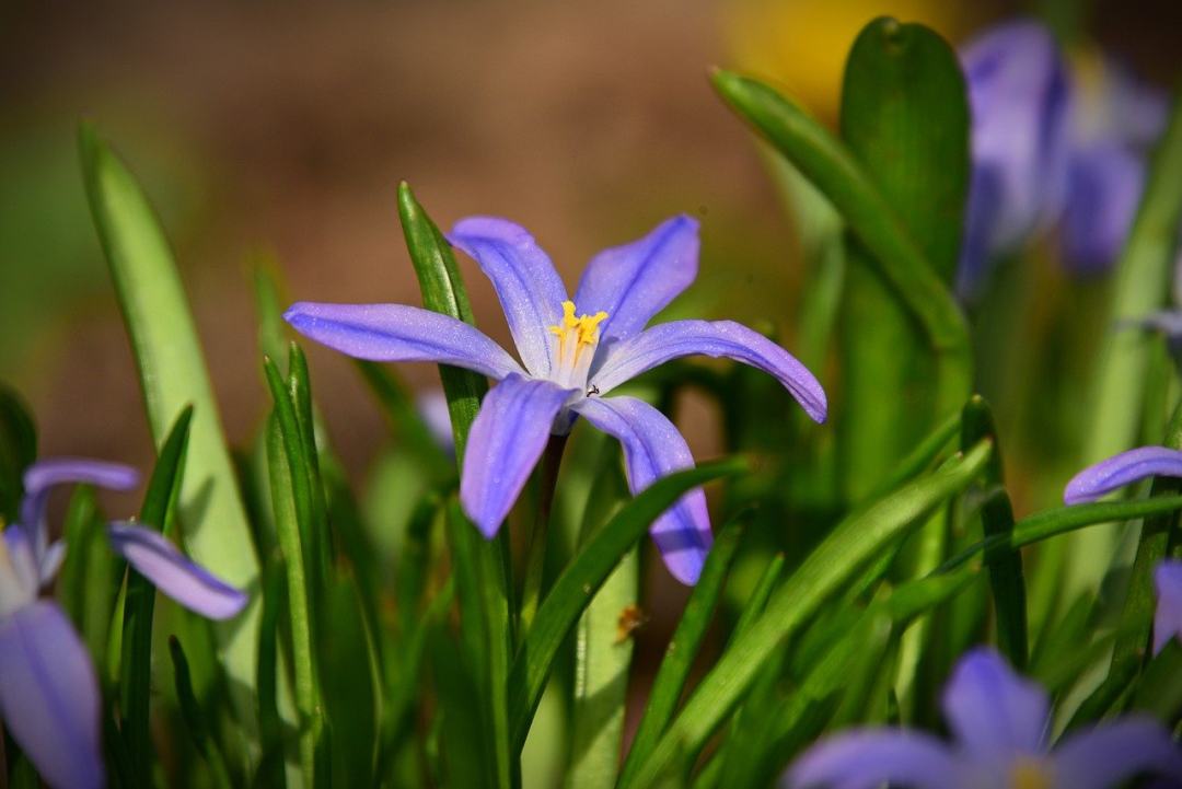
[[1059, 222], [1065, 265], [1103, 272], [1132, 224], [1165, 96], [1118, 64], [1070, 73], [1035, 21], [999, 25], [961, 52], [973, 112], [973, 175], [959, 288], [973, 294], [999, 255]]

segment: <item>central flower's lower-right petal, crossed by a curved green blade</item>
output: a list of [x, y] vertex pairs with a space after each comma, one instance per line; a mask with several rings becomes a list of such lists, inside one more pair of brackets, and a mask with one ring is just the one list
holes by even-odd
[[[635, 397], [589, 397], [572, 406], [587, 422], [624, 445], [628, 485], [632, 495], [656, 480], [693, 468], [686, 439], [655, 407]], [[690, 490], [664, 511], [649, 529], [669, 572], [682, 583], [694, 585], [710, 550], [710, 515], [701, 488]]]

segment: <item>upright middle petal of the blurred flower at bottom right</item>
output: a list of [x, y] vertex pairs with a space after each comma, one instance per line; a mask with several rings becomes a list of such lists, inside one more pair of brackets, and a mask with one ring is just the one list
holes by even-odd
[[960, 659], [944, 686], [943, 711], [960, 746], [975, 762], [1009, 762], [1045, 750], [1046, 693], [1014, 673], [993, 650], [976, 648]]

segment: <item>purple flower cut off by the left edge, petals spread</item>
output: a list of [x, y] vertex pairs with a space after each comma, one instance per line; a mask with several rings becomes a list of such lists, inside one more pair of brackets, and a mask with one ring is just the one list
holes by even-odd
[[[61, 608], [41, 600], [65, 543], [50, 542], [50, 489], [67, 482], [128, 490], [135, 469], [84, 459], [50, 459], [25, 472], [21, 520], [0, 539], [0, 717], [54, 789], [105, 783], [99, 693], [86, 647]], [[233, 617], [246, 595], [184, 559], [160, 534], [128, 523], [108, 527], [111, 547], [162, 592], [213, 619]]]

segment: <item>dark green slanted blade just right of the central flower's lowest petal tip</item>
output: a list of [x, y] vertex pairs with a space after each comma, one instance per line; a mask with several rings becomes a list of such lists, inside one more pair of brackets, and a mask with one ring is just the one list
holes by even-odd
[[719, 530], [719, 536], [710, 546], [702, 575], [686, 602], [686, 609], [677, 621], [677, 630], [669, 639], [661, 667], [652, 680], [648, 704], [644, 705], [644, 713], [641, 716], [636, 735], [632, 737], [632, 746], [621, 771], [622, 782], [630, 781], [644, 763], [673, 718], [674, 710], [677, 709], [677, 702], [681, 700], [686, 683], [689, 680], [689, 670], [714, 619], [714, 611], [722, 596], [722, 587], [730, 573], [745, 532], [746, 521], [734, 519]]

